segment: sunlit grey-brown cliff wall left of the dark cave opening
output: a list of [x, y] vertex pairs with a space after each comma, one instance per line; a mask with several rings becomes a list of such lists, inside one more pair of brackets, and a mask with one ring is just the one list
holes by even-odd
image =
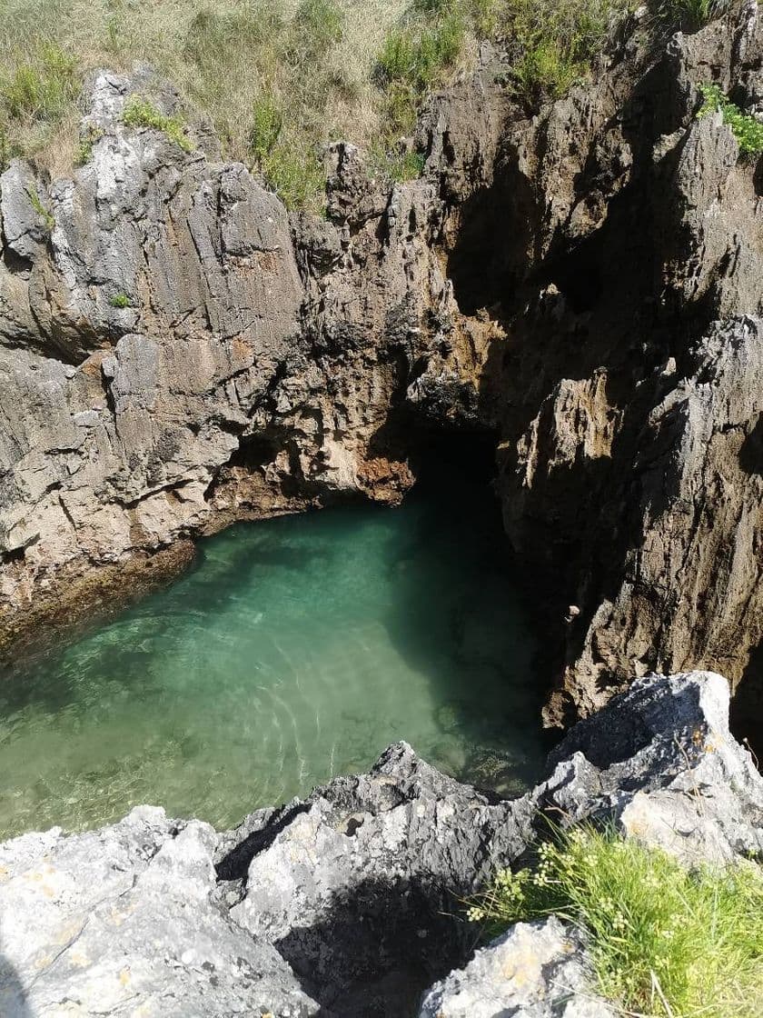
[[[243, 166], [126, 130], [141, 87], [96, 76], [72, 180], [20, 162], [0, 179], [4, 642], [56, 607], [86, 611], [118, 582], [110, 564], [139, 574], [173, 548], [171, 571], [187, 535], [353, 494], [396, 502], [413, 479], [395, 406], [455, 308], [435, 181], [387, 193], [340, 145], [329, 218], [290, 222]], [[482, 126], [461, 113], [470, 156]]]

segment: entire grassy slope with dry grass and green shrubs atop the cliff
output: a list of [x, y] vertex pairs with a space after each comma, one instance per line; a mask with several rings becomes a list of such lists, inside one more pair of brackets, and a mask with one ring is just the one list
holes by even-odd
[[[189, 117], [212, 121], [227, 159], [259, 172], [288, 206], [316, 207], [327, 142], [366, 147], [391, 179], [420, 172], [419, 154], [401, 139], [433, 90], [475, 66], [481, 41], [507, 53], [508, 86], [531, 109], [585, 79], [633, 6], [635, 0], [0, 0], [0, 167], [21, 155], [55, 176], [85, 162], [93, 139], [79, 137], [84, 75], [139, 62], [178, 88]], [[169, 129], [185, 147], [184, 122]]]

